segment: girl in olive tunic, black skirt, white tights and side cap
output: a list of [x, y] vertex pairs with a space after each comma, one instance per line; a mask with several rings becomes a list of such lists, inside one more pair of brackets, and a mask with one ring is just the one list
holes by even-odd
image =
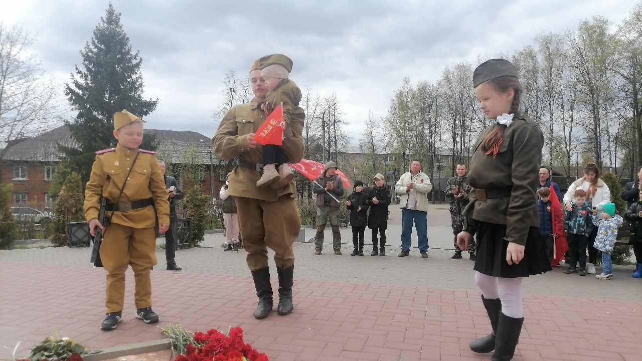
[[468, 179], [475, 191], [457, 235], [460, 249], [468, 249], [476, 235], [475, 282], [492, 326], [470, 348], [494, 350], [494, 361], [511, 360], [524, 322], [522, 277], [551, 270], [535, 196], [544, 138], [533, 119], [519, 112], [521, 85], [513, 64], [484, 62], [474, 71], [473, 85], [480, 109], [497, 123], [483, 130], [473, 148]]

